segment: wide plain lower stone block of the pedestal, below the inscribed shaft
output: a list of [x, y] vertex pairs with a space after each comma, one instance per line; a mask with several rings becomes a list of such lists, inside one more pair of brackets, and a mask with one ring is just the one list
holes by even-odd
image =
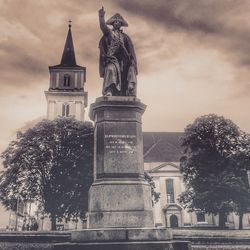
[[142, 180], [95, 182], [88, 228], [145, 228], [154, 224], [149, 185]]

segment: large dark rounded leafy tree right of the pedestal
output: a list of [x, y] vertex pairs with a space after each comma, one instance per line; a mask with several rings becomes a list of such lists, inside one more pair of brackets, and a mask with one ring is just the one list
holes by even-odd
[[179, 201], [189, 211], [219, 214], [220, 228], [225, 227], [227, 214], [243, 208], [240, 202], [247, 203], [249, 198], [241, 192], [243, 186], [249, 190], [244, 181], [249, 157], [242, 148], [242, 135], [231, 120], [211, 114], [188, 125], [182, 138], [186, 191]]

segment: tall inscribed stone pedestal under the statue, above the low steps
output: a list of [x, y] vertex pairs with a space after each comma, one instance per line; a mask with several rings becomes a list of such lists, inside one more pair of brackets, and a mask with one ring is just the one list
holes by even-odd
[[141, 116], [134, 97], [100, 97], [95, 122], [94, 183], [88, 228], [153, 227], [151, 190], [144, 180]]

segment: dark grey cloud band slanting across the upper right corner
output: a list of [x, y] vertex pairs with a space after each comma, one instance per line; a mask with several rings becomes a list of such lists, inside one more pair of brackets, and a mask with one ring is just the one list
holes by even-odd
[[[250, 65], [250, 2], [216, 0], [117, 1], [124, 10], [140, 15], [148, 23], [161, 25], [167, 32], [182, 32], [203, 46], [224, 51], [233, 63]], [[158, 36], [152, 30], [153, 36]]]

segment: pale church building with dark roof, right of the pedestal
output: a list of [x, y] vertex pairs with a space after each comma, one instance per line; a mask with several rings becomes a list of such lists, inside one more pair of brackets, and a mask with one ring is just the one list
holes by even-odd
[[[179, 159], [182, 156], [180, 137], [183, 133], [144, 132], [144, 169], [153, 177], [160, 200], [154, 207], [155, 226], [159, 227], [216, 227], [218, 216], [200, 211], [188, 212], [178, 203], [185, 191]], [[239, 217], [231, 213], [226, 226], [238, 229]], [[250, 229], [250, 214], [244, 214], [243, 228]]]

